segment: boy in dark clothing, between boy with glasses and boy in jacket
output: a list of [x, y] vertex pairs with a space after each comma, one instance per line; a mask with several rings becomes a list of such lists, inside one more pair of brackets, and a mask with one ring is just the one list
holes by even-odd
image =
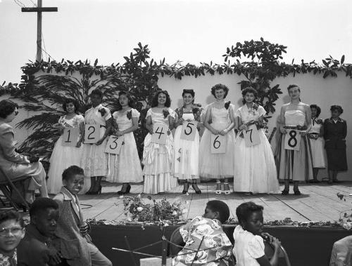
[[30, 225], [18, 246], [19, 266], [61, 264], [61, 255], [51, 244], [58, 220], [58, 204], [49, 198], [36, 199], [30, 207]]

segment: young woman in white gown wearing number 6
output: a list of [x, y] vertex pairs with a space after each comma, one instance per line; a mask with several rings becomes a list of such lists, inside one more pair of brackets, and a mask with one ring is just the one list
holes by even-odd
[[[215, 194], [230, 194], [228, 178], [234, 176], [234, 105], [225, 102], [229, 88], [217, 84], [211, 88], [215, 102], [208, 105], [204, 126], [206, 130], [199, 145], [199, 175], [216, 179]], [[211, 135], [225, 136], [225, 153], [211, 152]], [[224, 186], [221, 185], [224, 180]]]

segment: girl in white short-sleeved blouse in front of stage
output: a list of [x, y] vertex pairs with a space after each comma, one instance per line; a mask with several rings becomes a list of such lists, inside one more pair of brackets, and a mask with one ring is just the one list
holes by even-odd
[[[234, 256], [237, 266], [276, 266], [280, 242], [275, 237], [263, 234], [263, 206], [245, 202], [236, 209], [239, 225], [234, 229]], [[264, 239], [274, 246], [271, 260], [264, 253]]]

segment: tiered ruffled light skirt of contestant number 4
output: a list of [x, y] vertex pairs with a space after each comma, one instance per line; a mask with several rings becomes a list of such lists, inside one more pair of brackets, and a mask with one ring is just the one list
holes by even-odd
[[144, 187], [146, 194], [168, 192], [177, 187], [177, 178], [173, 176], [173, 138], [166, 138], [165, 145], [151, 143], [151, 134], [144, 139], [143, 161]]

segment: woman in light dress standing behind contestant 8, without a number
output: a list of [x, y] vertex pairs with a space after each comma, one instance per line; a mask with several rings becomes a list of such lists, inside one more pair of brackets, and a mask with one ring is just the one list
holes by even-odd
[[310, 112], [312, 113], [312, 127], [308, 132], [310, 140], [310, 147], [312, 147], [313, 156], [313, 180], [310, 182], [318, 183], [318, 172], [320, 168], [325, 168], [324, 155], [324, 121], [318, 119], [321, 109], [318, 105], [310, 105]]

